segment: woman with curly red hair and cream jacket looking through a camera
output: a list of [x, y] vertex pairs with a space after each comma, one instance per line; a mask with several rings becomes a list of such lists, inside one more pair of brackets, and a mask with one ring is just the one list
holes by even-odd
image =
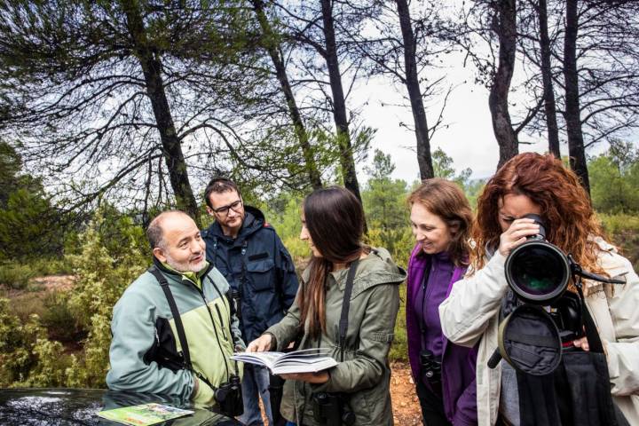
[[[630, 424], [639, 424], [639, 277], [604, 241], [578, 177], [551, 155], [533, 153], [513, 157], [485, 185], [477, 201], [470, 271], [439, 306], [442, 330], [451, 342], [470, 347], [479, 343], [479, 424], [518, 425], [526, 420], [520, 417], [516, 372], [504, 361], [494, 369], [486, 364], [497, 347], [502, 311], [512, 303], [506, 258], [540, 231], [533, 219], [525, 218], [528, 214], [540, 216], [548, 241], [572, 254], [583, 269], [626, 277], [622, 286], [586, 280], [584, 288], [588, 312], [604, 344], [613, 400]], [[585, 337], [573, 344], [588, 351]]]

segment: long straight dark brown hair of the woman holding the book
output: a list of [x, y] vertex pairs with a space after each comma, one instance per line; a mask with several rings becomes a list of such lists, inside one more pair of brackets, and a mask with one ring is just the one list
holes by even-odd
[[313, 191], [304, 199], [303, 209], [306, 229], [322, 256], [311, 258], [309, 280], [297, 303], [300, 324], [304, 327], [308, 320], [310, 335], [317, 337], [326, 332], [327, 273], [333, 264], [349, 264], [361, 256], [364, 209], [355, 195], [339, 186]]

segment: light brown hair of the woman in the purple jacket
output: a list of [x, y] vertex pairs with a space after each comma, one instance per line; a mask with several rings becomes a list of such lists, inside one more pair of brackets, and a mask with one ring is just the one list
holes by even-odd
[[448, 246], [451, 260], [457, 266], [467, 266], [473, 216], [469, 201], [459, 185], [439, 177], [426, 179], [408, 196], [411, 207], [415, 202], [446, 223], [451, 233]]

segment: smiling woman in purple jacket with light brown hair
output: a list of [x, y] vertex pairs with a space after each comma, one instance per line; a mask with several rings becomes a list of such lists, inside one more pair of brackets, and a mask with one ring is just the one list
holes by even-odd
[[408, 359], [428, 426], [477, 424], [475, 349], [449, 343], [438, 306], [461, 280], [469, 258], [472, 211], [459, 186], [425, 180], [408, 197], [417, 244], [408, 261]]

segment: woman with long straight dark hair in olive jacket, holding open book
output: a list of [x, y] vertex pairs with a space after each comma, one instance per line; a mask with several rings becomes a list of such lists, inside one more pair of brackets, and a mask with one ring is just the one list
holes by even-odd
[[[327, 392], [354, 424], [392, 424], [388, 354], [399, 308], [398, 285], [406, 272], [383, 248], [362, 244], [364, 211], [355, 196], [332, 186], [304, 200], [302, 233], [312, 250], [296, 302], [280, 323], [247, 351], [281, 351], [301, 338], [299, 349], [327, 348], [339, 362], [317, 374], [284, 375], [281, 414], [297, 425], [326, 424], [313, 416], [317, 396]], [[348, 276], [351, 296], [348, 293]], [[348, 327], [340, 344], [344, 299]]]

